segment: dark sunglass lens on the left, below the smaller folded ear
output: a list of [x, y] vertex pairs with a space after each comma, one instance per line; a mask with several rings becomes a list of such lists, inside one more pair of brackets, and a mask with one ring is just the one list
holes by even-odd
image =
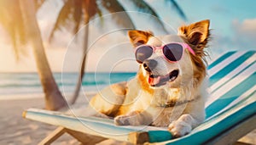
[[138, 47], [135, 57], [138, 63], [142, 64], [145, 59], [148, 59], [153, 53], [153, 48], [149, 46]]

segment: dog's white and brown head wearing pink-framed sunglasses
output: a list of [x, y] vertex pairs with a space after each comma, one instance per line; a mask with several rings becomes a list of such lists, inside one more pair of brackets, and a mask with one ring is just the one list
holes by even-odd
[[154, 36], [148, 31], [129, 31], [140, 70], [138, 78], [150, 89], [178, 87], [187, 81], [200, 84], [206, 75], [204, 47], [209, 20], [183, 25], [176, 36]]

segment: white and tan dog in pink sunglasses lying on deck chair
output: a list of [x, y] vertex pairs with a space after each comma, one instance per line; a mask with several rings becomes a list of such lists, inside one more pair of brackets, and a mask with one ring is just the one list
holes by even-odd
[[139, 70], [134, 79], [107, 86], [91, 98], [115, 125], [168, 127], [183, 137], [205, 120], [209, 20], [183, 25], [177, 35], [128, 31]]

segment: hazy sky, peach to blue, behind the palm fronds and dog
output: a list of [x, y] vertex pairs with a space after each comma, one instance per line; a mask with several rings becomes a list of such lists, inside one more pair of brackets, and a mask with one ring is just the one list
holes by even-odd
[[[148, 14], [135, 12], [128, 1], [119, 0], [129, 9], [132, 21], [137, 29], [153, 31], [163, 35], [153, 18]], [[200, 20], [210, 20], [212, 40], [207, 51], [215, 59], [220, 54], [231, 50], [255, 50], [256, 48], [256, 1], [254, 0], [179, 0], [188, 20], [182, 20], [170, 3], [165, 0], [147, 0], [148, 4], [159, 14], [170, 33], [177, 33], [179, 25], [190, 24]], [[49, 31], [61, 8], [61, 1], [45, 3], [38, 11], [38, 25], [44, 39], [44, 47], [54, 72], [78, 72], [83, 51], [80, 48], [83, 40], [83, 28], [76, 36], [68, 31], [55, 34], [55, 41], [47, 41]], [[115, 25], [113, 15], [103, 15], [104, 22], [95, 18], [90, 23], [90, 41], [86, 71], [137, 71], [138, 64], [124, 27]], [[0, 72], [36, 72], [31, 47], [19, 60], [10, 45], [9, 38], [0, 25]]]

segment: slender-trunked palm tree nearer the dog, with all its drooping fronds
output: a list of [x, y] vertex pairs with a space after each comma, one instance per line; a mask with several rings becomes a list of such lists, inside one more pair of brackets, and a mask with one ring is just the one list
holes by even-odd
[[[98, 2], [98, 3], [97, 3]], [[148, 13], [156, 17], [155, 19], [156, 23], [160, 25], [162, 30], [166, 31], [163, 23], [159, 20], [159, 15], [156, 14], [154, 8], [151, 8], [148, 3], [144, 2], [143, 0], [131, 0], [131, 2], [139, 11], [142, 11], [144, 13]], [[166, 2], [172, 3], [174, 8], [176, 8], [178, 14], [183, 18], [183, 20], [186, 20], [185, 14], [183, 14], [183, 10], [178, 6], [178, 4], [174, 0], [166, 0]], [[79, 31], [80, 25], [84, 24], [84, 56], [82, 58], [82, 64], [81, 69], [79, 71], [79, 79], [78, 83], [75, 89], [75, 92], [73, 94], [73, 98], [71, 103], [75, 103], [76, 99], [79, 96], [79, 91], [81, 87], [81, 82], [84, 77], [84, 68], [85, 68], [85, 62], [86, 62], [86, 53], [87, 53], [87, 47], [88, 47], [88, 36], [89, 36], [89, 21], [94, 18], [96, 15], [102, 16], [102, 9], [106, 8], [110, 14], [116, 13], [116, 12], [123, 12], [119, 17], [119, 14], [115, 15], [116, 18], [113, 20], [116, 20], [116, 24], [125, 26], [125, 28], [131, 28], [135, 29], [135, 25], [132, 22], [129, 14], [126, 13], [125, 8], [123, 8], [122, 4], [119, 3], [118, 0], [63, 0], [63, 7], [61, 8], [61, 11], [58, 15], [58, 18], [55, 22], [55, 26], [53, 30], [51, 31], [51, 34], [49, 36], [49, 41], [53, 39], [53, 36], [55, 34], [55, 31], [59, 30], [61, 26], [64, 26], [67, 28], [67, 30], [70, 30], [73, 34], [76, 34]], [[100, 7], [102, 6], [102, 7]], [[84, 16], [84, 20], [82, 20]], [[75, 22], [75, 26], [73, 29], [70, 29], [70, 25], [68, 25], [68, 21]], [[120, 23], [122, 22], [122, 23]]]

